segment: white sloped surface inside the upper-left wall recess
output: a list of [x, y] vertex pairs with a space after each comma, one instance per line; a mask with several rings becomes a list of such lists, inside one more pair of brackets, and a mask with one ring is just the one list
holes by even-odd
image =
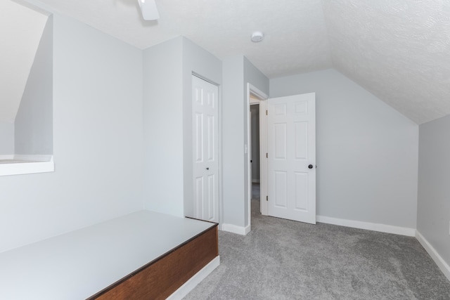
[[48, 15], [0, 1], [0, 122], [13, 123]]

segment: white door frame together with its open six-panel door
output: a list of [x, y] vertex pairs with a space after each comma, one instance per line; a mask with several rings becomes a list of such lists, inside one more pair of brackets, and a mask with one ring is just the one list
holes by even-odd
[[[249, 220], [257, 169], [253, 105], [259, 108], [259, 211], [263, 215], [316, 223], [315, 94], [263, 98], [248, 93]], [[256, 191], [255, 191], [256, 192]], [[253, 201], [255, 203], [255, 201]], [[249, 221], [251, 222], [251, 221]]]

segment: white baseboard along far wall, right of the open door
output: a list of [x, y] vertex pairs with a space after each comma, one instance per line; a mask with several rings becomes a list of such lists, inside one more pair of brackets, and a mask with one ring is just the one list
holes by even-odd
[[378, 223], [368, 223], [368, 222], [353, 221], [353, 220], [345, 220], [345, 219], [336, 219], [336, 218], [330, 218], [329, 216], [316, 216], [316, 218], [317, 218], [317, 221], [321, 222], [321, 223], [328, 223], [328, 224], [333, 224], [333, 225], [340, 225], [340, 226], [359, 228], [359, 229], [367, 229], [367, 230], [379, 231], [381, 233], [394, 233], [396, 235], [406, 235], [409, 237], [416, 236], [416, 229], [414, 229], [414, 228], [406, 228], [406, 227], [399, 227], [399, 226], [392, 226], [392, 225], [385, 225], [385, 224], [378, 224]]

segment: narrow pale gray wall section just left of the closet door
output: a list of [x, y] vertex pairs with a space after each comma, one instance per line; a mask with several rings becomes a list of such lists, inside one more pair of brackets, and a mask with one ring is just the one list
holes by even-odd
[[143, 52], [144, 205], [184, 214], [183, 39]]

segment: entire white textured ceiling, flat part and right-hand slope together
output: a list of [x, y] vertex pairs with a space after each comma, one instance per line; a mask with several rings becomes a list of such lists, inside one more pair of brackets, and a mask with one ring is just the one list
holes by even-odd
[[450, 1], [156, 0], [158, 21], [137, 0], [27, 1], [138, 48], [183, 35], [244, 54], [269, 78], [334, 67], [418, 124], [450, 114]]

